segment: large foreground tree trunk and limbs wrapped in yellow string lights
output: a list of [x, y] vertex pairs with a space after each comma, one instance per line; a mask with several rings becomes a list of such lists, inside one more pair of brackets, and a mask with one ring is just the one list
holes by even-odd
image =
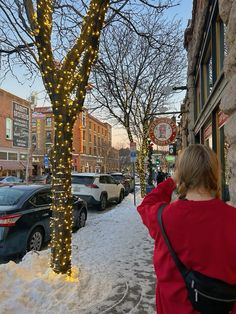
[[[93, 0], [81, 34], [61, 64], [53, 57], [52, 0], [41, 0], [31, 8], [30, 24], [38, 50], [38, 64], [48, 91], [55, 121], [52, 151], [52, 241], [51, 267], [57, 273], [71, 272], [72, 230], [72, 129], [82, 108], [91, 66], [97, 57], [99, 36], [108, 9], [107, 0]], [[79, 67], [78, 67], [79, 65]], [[71, 94], [75, 97], [71, 100]]]

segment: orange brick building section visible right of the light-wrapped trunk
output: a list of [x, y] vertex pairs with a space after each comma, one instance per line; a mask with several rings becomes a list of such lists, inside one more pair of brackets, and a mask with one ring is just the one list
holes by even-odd
[[84, 109], [73, 129], [73, 167], [79, 172], [119, 169], [119, 151], [112, 147], [112, 127]]

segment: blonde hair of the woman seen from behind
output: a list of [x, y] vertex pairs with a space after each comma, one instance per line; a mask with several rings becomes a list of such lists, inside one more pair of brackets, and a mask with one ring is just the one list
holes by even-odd
[[220, 198], [220, 168], [215, 152], [201, 144], [188, 146], [178, 157], [176, 179], [180, 198], [188, 190], [205, 188]]

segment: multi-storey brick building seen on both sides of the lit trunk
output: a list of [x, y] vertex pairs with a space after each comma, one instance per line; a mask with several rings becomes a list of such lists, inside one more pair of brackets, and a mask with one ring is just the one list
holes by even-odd
[[[50, 172], [50, 149], [54, 139], [53, 113], [50, 107], [36, 107], [32, 118], [33, 174]], [[78, 115], [73, 129], [73, 170], [78, 172], [107, 172], [119, 167], [119, 152], [112, 147], [112, 127], [88, 113]], [[49, 158], [50, 160], [50, 158]]]

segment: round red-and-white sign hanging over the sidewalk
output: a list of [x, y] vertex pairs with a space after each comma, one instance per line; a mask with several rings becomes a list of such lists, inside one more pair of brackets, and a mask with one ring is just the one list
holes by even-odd
[[177, 134], [177, 127], [170, 118], [158, 118], [149, 127], [151, 141], [160, 146], [173, 143]]

